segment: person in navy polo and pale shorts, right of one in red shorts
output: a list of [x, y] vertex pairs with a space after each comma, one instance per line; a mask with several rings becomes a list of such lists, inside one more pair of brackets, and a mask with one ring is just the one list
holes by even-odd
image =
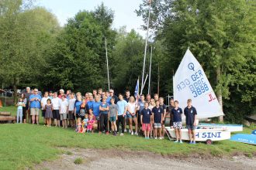
[[163, 108], [159, 106], [159, 101], [156, 100], [156, 106], [152, 109], [153, 123], [154, 123], [154, 139], [157, 139], [157, 131], [159, 132], [159, 139], [163, 139], [161, 134], [163, 112], [164, 112]]

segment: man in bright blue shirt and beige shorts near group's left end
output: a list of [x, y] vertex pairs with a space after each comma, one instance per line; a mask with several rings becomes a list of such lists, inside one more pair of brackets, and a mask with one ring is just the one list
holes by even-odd
[[33, 94], [29, 96], [29, 102], [30, 102], [30, 115], [32, 118], [32, 124], [39, 124], [39, 112], [40, 112], [40, 102], [42, 100], [42, 97], [38, 94], [38, 89], [33, 90]]

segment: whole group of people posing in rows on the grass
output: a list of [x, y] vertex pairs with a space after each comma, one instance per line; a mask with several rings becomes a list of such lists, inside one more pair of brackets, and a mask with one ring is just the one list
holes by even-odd
[[[170, 100], [169, 107], [164, 104], [164, 98], [154, 94], [145, 97], [140, 95], [137, 99], [126, 90], [125, 95], [114, 90], [93, 90], [92, 93], [72, 93], [71, 90], [59, 90], [57, 92], [44, 92], [43, 97], [37, 89], [30, 90], [26, 87], [26, 93], [22, 93], [17, 103], [17, 123], [39, 124], [40, 110], [44, 125], [50, 127], [71, 127], [78, 133], [99, 134], [112, 132], [113, 135], [124, 135], [125, 132], [138, 135], [144, 133], [146, 139], [163, 139], [165, 134], [164, 124], [170, 124], [175, 128], [177, 141], [182, 143], [182, 109], [178, 107], [177, 100]], [[186, 127], [189, 129], [190, 143], [195, 143], [195, 119], [196, 110], [192, 107], [192, 100], [188, 100], [188, 106], [184, 109]], [[170, 117], [170, 122], [165, 122]], [[134, 129], [133, 129], [134, 124]], [[128, 130], [126, 125], [129, 125]], [[119, 130], [119, 127], [121, 129]]]

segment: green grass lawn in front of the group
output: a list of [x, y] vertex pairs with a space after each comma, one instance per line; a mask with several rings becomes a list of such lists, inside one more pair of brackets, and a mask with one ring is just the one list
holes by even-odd
[[[0, 108], [0, 111], [3, 110], [16, 114], [16, 107]], [[244, 129], [244, 133], [251, 132], [249, 128]], [[194, 153], [202, 156], [242, 153], [252, 157], [256, 154], [254, 145], [234, 141], [217, 141], [213, 145], [180, 145], [168, 139], [145, 140], [130, 134], [123, 137], [97, 133], [76, 134], [72, 129], [46, 128], [36, 124], [0, 124], [0, 141], [0, 169], [33, 168], [34, 164], [56, 159], [61, 153], [67, 152], [62, 148], [119, 148], [182, 156]]]

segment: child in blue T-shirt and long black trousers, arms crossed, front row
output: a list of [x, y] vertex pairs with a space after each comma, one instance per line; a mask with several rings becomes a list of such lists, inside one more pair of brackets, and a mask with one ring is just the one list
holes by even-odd
[[102, 103], [99, 105], [100, 110], [100, 128], [101, 131], [99, 131], [99, 134], [101, 134], [103, 131], [106, 132], [106, 134], [109, 134], [109, 128], [108, 128], [108, 112], [109, 112], [109, 104], [106, 103], [106, 97], [102, 98]]

